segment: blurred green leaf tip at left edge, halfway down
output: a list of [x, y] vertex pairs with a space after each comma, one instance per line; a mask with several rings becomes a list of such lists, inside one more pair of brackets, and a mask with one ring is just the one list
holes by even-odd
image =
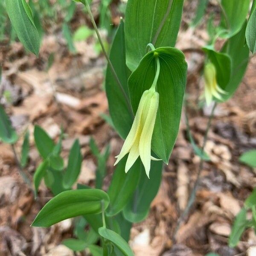
[[0, 139], [4, 143], [13, 144], [18, 140], [17, 133], [12, 127], [9, 116], [6, 115], [4, 108], [0, 105]]

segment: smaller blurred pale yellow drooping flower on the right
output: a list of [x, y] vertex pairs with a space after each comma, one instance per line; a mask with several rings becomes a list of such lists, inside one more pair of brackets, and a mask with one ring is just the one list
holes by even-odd
[[208, 62], [204, 67], [204, 83], [204, 96], [207, 105], [210, 105], [213, 96], [216, 99], [223, 100], [221, 93], [226, 94], [227, 92], [219, 87], [216, 79], [216, 69], [211, 62]]

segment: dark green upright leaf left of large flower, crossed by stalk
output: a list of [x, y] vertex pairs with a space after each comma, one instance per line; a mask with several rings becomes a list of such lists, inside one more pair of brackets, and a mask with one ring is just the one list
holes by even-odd
[[131, 129], [134, 115], [131, 111], [130, 101], [128, 100], [127, 80], [131, 72], [125, 64], [125, 33], [124, 22], [122, 20], [116, 30], [109, 58], [122, 84], [123, 92], [125, 93], [124, 94], [120, 89], [108, 65], [105, 87], [108, 97], [109, 112], [116, 131], [125, 139]]

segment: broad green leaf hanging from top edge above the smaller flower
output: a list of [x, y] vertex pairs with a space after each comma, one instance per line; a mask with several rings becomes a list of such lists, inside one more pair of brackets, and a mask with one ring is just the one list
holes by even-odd
[[241, 30], [249, 5], [250, 0], [221, 0], [223, 8], [221, 28], [226, 29], [226, 32], [222, 34], [224, 38], [230, 38]]

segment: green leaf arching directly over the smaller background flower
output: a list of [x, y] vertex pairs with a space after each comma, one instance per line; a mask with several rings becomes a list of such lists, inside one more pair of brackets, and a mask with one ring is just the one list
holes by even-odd
[[225, 90], [228, 82], [230, 81], [230, 57], [225, 53], [216, 52], [211, 47], [204, 47], [203, 50], [207, 53], [209, 60], [216, 68], [218, 85]]

